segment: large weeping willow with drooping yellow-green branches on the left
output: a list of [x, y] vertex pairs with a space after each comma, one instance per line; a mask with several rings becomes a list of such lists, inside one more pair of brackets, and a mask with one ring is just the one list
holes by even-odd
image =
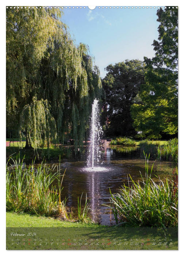
[[61, 14], [43, 7], [7, 9], [7, 127], [26, 133], [26, 147], [68, 138], [81, 144], [92, 101], [101, 95], [88, 47], [75, 45]]

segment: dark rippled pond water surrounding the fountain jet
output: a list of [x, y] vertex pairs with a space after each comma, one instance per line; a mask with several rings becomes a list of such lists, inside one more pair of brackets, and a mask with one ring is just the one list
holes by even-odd
[[[71, 156], [72, 155], [72, 156]], [[106, 147], [101, 151], [101, 162], [97, 168], [86, 167], [85, 149], [83, 154], [61, 162], [61, 168], [66, 169], [62, 191], [62, 198], [68, 198], [66, 205], [68, 207], [77, 208], [77, 197], [81, 197], [83, 193], [83, 204], [85, 202], [85, 193], [90, 199], [90, 208], [92, 210], [91, 217], [95, 222], [101, 225], [110, 225], [110, 211], [107, 206], [110, 202], [110, 189], [112, 193], [118, 192], [121, 185], [127, 184], [129, 174], [133, 180], [141, 180], [140, 172], [145, 177], [145, 159], [136, 156], [136, 151], [126, 150], [120, 147]], [[176, 167], [176, 163], [165, 161], [149, 161], [149, 169], [152, 164], [152, 178], [158, 180], [159, 176], [162, 180], [171, 177], [172, 170]], [[156, 175], [156, 176], [155, 176]]]

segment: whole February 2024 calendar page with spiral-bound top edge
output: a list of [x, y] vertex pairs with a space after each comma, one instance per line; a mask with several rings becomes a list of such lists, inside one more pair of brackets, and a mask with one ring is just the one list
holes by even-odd
[[177, 250], [178, 7], [5, 9], [6, 249]]

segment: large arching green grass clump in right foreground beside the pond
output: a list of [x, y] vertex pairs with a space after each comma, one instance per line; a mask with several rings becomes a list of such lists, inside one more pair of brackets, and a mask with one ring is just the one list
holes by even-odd
[[130, 226], [177, 226], [178, 191], [177, 173], [173, 180], [154, 182], [151, 178], [153, 166], [148, 168], [149, 157], [145, 156], [145, 178], [131, 185], [123, 185], [119, 193], [110, 198], [111, 210], [117, 224], [128, 223]]

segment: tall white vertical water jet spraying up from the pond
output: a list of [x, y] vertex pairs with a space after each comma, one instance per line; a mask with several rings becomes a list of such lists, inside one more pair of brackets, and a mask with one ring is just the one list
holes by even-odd
[[99, 106], [98, 100], [94, 99], [92, 104], [92, 115], [91, 115], [91, 130], [90, 130], [90, 149], [88, 155], [87, 166], [94, 168], [94, 162], [99, 163], [100, 161], [100, 137], [102, 135], [102, 129], [99, 123]]

